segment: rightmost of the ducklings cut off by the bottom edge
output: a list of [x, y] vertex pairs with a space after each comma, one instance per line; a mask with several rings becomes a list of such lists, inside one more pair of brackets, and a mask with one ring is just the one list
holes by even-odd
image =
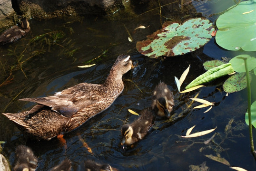
[[84, 171], [112, 171], [112, 168], [109, 164], [99, 164], [91, 160], [85, 161], [84, 166]]

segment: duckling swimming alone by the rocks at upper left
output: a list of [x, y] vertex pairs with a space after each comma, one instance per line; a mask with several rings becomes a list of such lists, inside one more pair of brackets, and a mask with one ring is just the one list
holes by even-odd
[[0, 44], [4, 45], [7, 43], [12, 43], [17, 41], [19, 38], [25, 36], [30, 31], [30, 23], [28, 19], [22, 18], [20, 19], [20, 26], [13, 26], [7, 30], [5, 30], [0, 35]]

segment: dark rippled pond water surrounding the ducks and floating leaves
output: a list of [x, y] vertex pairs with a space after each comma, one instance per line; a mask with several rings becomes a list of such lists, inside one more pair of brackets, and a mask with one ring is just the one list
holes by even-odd
[[[170, 1], [163, 1], [163, 4], [167, 3]], [[211, 14], [221, 12], [233, 4], [234, 1], [227, 3], [226, 0], [194, 1], [196, 12], [193, 9], [194, 11], [190, 10], [192, 12], [188, 14], [191, 17], [201, 12], [202, 16], [214, 21], [218, 15], [210, 16]], [[162, 12], [168, 19], [186, 18], [187, 14], [183, 13], [179, 16], [178, 12], [175, 13], [176, 16], [173, 14], [173, 18], [168, 16], [168, 11], [175, 11], [174, 9], [174, 7], [163, 8]], [[137, 10], [138, 14], [147, 11]], [[180, 95], [174, 81], [174, 76], [180, 77], [190, 64], [190, 72], [182, 86], [184, 89], [195, 77], [205, 72], [202, 67], [205, 61], [234, 57], [245, 52], [224, 50], [218, 47], [212, 38], [204, 47], [183, 56], [157, 60], [140, 55], [136, 50], [136, 41], [145, 39], [146, 35], [160, 28], [158, 14], [159, 12], [154, 10], [132, 19], [124, 17], [113, 21], [92, 16], [48, 21], [31, 19], [32, 31], [28, 36], [10, 46], [0, 47], [1, 82], [3, 82], [10, 75], [8, 65], [17, 64], [18, 56], [31, 38], [56, 30], [65, 33], [55, 45], [49, 46], [45, 43], [48, 40], [45, 39], [40, 45], [33, 44], [26, 48], [20, 62], [31, 57], [35, 51], [44, 52], [22, 63], [24, 73], [16, 66], [9, 81], [0, 87], [0, 111], [5, 113], [29, 110], [34, 105], [18, 101], [20, 98], [53, 95], [57, 91], [82, 82], [103, 83], [119, 54], [129, 54], [133, 61], [138, 62], [135, 70], [123, 76], [125, 89], [106, 111], [96, 115], [75, 131], [64, 135], [67, 149], [57, 139], [39, 142], [28, 139], [11, 121], [0, 115], [0, 141], [6, 142], [1, 144], [3, 154], [11, 164], [14, 163], [16, 146], [26, 144], [39, 158], [38, 171], [47, 171], [65, 158], [72, 161], [73, 171], [81, 170], [81, 163], [89, 159], [109, 163], [121, 171], [188, 171], [190, 165], [200, 165], [204, 161], [211, 171], [231, 170], [227, 165], [206, 157], [210, 154], [225, 158], [231, 166], [242, 167], [248, 171], [256, 170], [255, 160], [250, 153], [248, 126], [244, 121], [247, 108], [246, 90], [226, 96], [222, 91], [222, 84], [226, 80], [224, 77], [211, 82], [201, 90]], [[133, 29], [139, 25], [149, 27], [134, 33]], [[132, 34], [133, 42], [128, 41], [125, 26]], [[77, 49], [73, 56], [65, 55], [72, 49]], [[12, 52], [15, 50], [16, 56], [8, 55], [10, 50]], [[77, 67], [100, 55], [102, 56], [98, 58], [100, 60], [96, 60], [95, 66]], [[144, 140], [138, 142], [132, 149], [123, 150], [120, 145], [119, 130], [124, 121], [132, 122], [138, 117], [130, 114], [128, 109], [139, 112], [150, 106], [152, 91], [160, 80], [164, 81], [175, 95], [174, 119], [167, 122], [158, 119]], [[199, 93], [198, 98], [216, 102], [209, 112], [204, 113], [205, 108], [193, 110], [196, 103], [192, 104], [192, 107], [188, 106], [191, 101], [189, 98], [197, 93]], [[217, 129], [205, 136], [181, 138], [180, 135], [185, 135], [187, 129], [193, 125], [196, 125], [193, 132], [216, 126]], [[230, 129], [226, 129], [228, 125]], [[204, 142], [214, 133], [216, 134], [213, 141], [205, 144]], [[255, 130], [253, 133], [256, 137]], [[83, 142], [87, 143], [93, 153], [88, 152]]]

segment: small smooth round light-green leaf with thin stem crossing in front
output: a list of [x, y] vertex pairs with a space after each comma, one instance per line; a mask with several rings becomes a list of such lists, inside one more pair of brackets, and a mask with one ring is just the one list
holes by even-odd
[[238, 55], [233, 57], [229, 63], [232, 65], [236, 72], [246, 72], [244, 59], [239, 59], [237, 57], [247, 57], [247, 68], [248, 70], [252, 70], [256, 67], [256, 58], [250, 57], [249, 55]]

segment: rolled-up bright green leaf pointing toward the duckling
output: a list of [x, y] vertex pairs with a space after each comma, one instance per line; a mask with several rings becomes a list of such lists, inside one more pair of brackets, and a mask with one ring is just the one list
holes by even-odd
[[222, 64], [221, 66], [209, 69], [204, 74], [197, 76], [196, 79], [194, 79], [191, 83], [189, 83], [189, 85], [186, 86], [186, 89], [210, 82], [218, 77], [226, 76], [232, 72], [234, 72], [234, 69], [231, 64]]

